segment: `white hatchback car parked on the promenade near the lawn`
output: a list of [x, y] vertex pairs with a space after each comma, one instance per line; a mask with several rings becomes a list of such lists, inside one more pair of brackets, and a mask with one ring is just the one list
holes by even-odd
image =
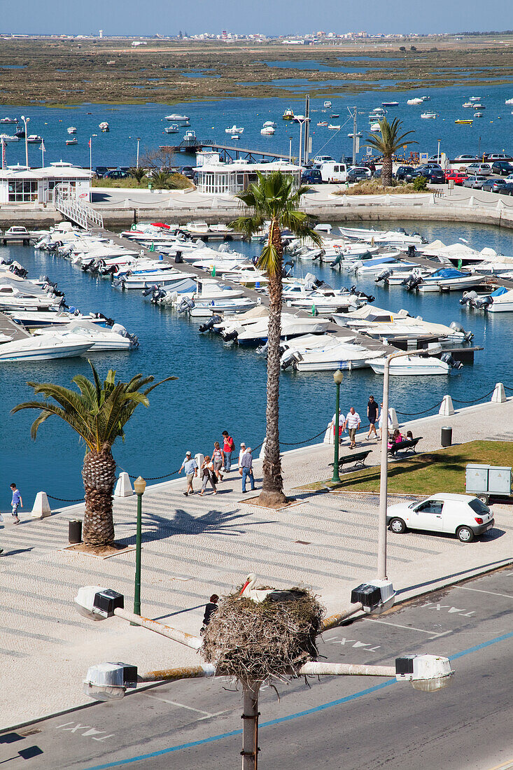
[[456, 534], [462, 543], [495, 524], [488, 505], [468, 494], [433, 494], [420, 503], [398, 503], [387, 508], [387, 526], [401, 534], [407, 529]]

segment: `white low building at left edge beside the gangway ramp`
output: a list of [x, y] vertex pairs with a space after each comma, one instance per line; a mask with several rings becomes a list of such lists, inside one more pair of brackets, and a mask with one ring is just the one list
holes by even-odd
[[63, 184], [89, 201], [91, 172], [62, 160], [43, 169], [7, 166], [0, 171], [0, 203], [53, 203], [55, 186]]

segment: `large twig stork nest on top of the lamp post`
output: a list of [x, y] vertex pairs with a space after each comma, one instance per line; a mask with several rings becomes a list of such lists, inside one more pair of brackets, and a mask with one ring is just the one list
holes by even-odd
[[295, 596], [289, 601], [257, 603], [238, 593], [223, 597], [203, 634], [205, 660], [243, 684], [283, 681], [316, 660], [324, 607], [305, 588], [291, 591]]

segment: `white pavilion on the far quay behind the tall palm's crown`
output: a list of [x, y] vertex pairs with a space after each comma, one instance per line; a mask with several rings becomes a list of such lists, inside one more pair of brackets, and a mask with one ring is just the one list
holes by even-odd
[[300, 167], [284, 160], [273, 163], [250, 163], [247, 160], [235, 160], [233, 163], [220, 162], [219, 152], [198, 152], [196, 154], [198, 192], [214, 194], [233, 194], [247, 189], [252, 182], [257, 182], [257, 171], [269, 174], [281, 171], [293, 176], [294, 186], [300, 184]]

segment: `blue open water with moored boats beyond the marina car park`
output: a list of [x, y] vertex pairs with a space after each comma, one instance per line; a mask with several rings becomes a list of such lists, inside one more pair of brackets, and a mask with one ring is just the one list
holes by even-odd
[[[395, 73], [391, 73], [395, 74]], [[397, 75], [395, 75], [397, 77]], [[281, 82], [282, 85], [283, 82]], [[360, 83], [360, 85], [362, 85]], [[316, 84], [304, 79], [297, 79], [291, 87], [298, 95], [293, 99], [222, 99], [218, 102], [179, 103], [160, 105], [154, 103], [141, 105], [92, 105], [83, 104], [65, 109], [48, 108], [43, 105], [30, 105], [5, 108], [7, 115], [28, 115], [29, 133], [37, 133], [45, 141], [45, 163], [65, 159], [80, 166], [89, 167], [89, 137], [92, 134], [92, 166], [130, 166], [136, 162], [136, 138], [139, 136], [141, 158], [146, 149], [156, 149], [159, 145], [179, 142], [183, 133], [179, 132], [172, 138], [164, 132], [168, 122], [164, 116], [169, 112], [180, 112], [189, 115], [191, 128], [202, 139], [215, 139], [221, 144], [233, 144], [228, 141], [224, 129], [227, 126], [244, 127], [240, 146], [250, 149], [267, 149], [271, 152], [288, 153], [290, 137], [292, 137], [292, 152], [299, 152], [300, 126], [297, 123], [281, 120], [284, 109], [292, 107], [294, 112], [303, 114], [304, 99], [301, 95], [306, 90], [314, 89]], [[319, 85], [322, 87], [322, 84]], [[337, 84], [334, 83], [334, 87]], [[340, 89], [347, 88], [340, 82]], [[312, 145], [313, 154], [319, 152], [330, 154], [335, 158], [352, 152], [352, 140], [347, 133], [352, 130], [352, 119], [347, 107], [357, 106], [360, 128], [367, 126], [367, 115], [371, 109], [380, 106], [381, 102], [400, 102], [397, 108], [388, 110], [387, 117], [401, 118], [404, 130], [414, 130], [411, 139], [418, 142], [414, 149], [419, 152], [437, 152], [438, 140], [442, 152], [454, 157], [468, 152], [512, 152], [511, 129], [513, 115], [511, 105], [505, 105], [505, 99], [513, 96], [513, 85], [457, 85], [451, 88], [411, 89], [404, 92], [394, 91], [393, 81], [381, 81], [375, 86], [374, 92], [368, 91], [357, 95], [331, 95], [333, 106], [329, 112], [323, 112], [323, 102], [327, 96], [311, 99], [312, 109]], [[455, 126], [457, 118], [471, 117], [473, 111], [462, 109], [463, 102], [476, 94], [481, 96], [486, 105], [485, 115], [474, 120], [473, 126]], [[423, 105], [407, 105], [407, 99], [418, 95], [431, 96], [430, 102]], [[435, 120], [422, 120], [421, 113], [425, 110], [437, 112]], [[327, 129], [318, 128], [317, 122], [325, 119], [330, 112], [340, 113], [340, 122], [346, 125], [340, 132], [334, 133]], [[500, 118], [500, 119], [499, 119]], [[99, 131], [99, 122], [106, 120], [110, 124], [110, 132]], [[260, 129], [266, 120], [275, 120], [277, 130], [273, 136], [261, 136]], [[66, 146], [68, 139], [66, 128], [77, 127], [75, 146]], [[2, 131], [13, 133], [11, 126], [3, 126]], [[346, 130], [347, 128], [347, 130]], [[185, 129], [184, 129], [185, 131]], [[364, 141], [362, 142], [364, 146]], [[8, 164], [25, 162], [25, 142], [9, 142], [6, 146]], [[176, 164], [192, 163], [193, 156], [176, 156]], [[41, 164], [39, 146], [28, 146], [28, 159], [33, 166]]]

